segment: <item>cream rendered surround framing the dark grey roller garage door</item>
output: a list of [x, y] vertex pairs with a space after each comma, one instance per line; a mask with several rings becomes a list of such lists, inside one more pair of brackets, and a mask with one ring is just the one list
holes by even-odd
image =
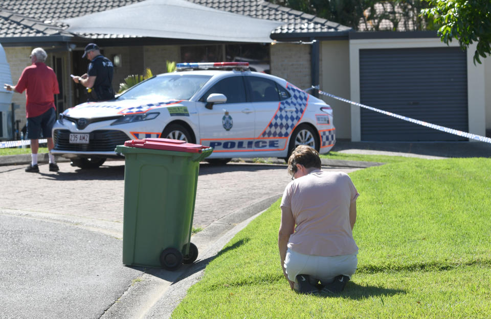
[[[360, 102], [360, 50], [368, 48], [419, 48], [419, 47], [445, 47], [439, 38], [414, 38], [414, 39], [354, 39], [349, 42], [350, 63], [350, 88], [351, 101]], [[457, 41], [451, 42], [450, 46], [458, 46]], [[484, 65], [474, 65], [473, 55], [475, 45], [467, 50], [467, 104], [468, 104], [468, 127], [469, 132], [485, 136], [486, 114], [486, 92], [485, 92], [485, 70]], [[489, 73], [488, 78], [490, 77]], [[489, 104], [487, 109], [489, 109]], [[489, 127], [489, 126], [488, 126]], [[361, 140], [361, 118], [360, 107], [351, 106], [351, 140]]]

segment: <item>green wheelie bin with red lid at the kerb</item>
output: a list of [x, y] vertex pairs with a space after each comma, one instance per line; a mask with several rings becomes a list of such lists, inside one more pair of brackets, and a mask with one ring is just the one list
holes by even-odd
[[213, 149], [166, 138], [126, 141], [123, 264], [175, 270], [198, 257], [190, 242], [199, 161]]

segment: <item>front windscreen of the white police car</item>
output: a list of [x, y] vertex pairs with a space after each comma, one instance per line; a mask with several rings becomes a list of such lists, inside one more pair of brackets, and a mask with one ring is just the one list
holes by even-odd
[[178, 73], [154, 77], [133, 86], [118, 99], [189, 100], [210, 78], [211, 76]]

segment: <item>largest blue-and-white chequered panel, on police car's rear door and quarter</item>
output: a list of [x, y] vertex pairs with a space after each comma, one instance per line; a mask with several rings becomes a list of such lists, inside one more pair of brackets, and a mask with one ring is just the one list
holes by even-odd
[[308, 94], [291, 85], [286, 89], [292, 97], [280, 102], [275, 116], [259, 137], [288, 137], [302, 118], [307, 108]]

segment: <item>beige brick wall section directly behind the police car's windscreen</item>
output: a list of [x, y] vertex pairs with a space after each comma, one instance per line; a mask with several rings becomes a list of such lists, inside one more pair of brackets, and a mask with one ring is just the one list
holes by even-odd
[[144, 67], [153, 75], [167, 72], [165, 61], [181, 62], [181, 47], [178, 45], [154, 45], [144, 47]]

